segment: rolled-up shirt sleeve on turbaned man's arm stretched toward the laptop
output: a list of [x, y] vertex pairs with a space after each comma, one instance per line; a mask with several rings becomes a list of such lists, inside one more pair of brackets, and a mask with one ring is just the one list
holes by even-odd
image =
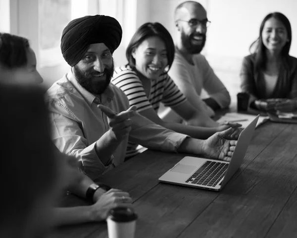
[[189, 137], [157, 125], [138, 113], [132, 119], [129, 140], [148, 149], [177, 152], [179, 146]]

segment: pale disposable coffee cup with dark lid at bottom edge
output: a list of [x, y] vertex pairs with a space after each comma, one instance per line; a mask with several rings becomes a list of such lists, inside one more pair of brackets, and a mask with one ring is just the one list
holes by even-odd
[[107, 216], [108, 238], [134, 238], [137, 214], [132, 208], [116, 207]]

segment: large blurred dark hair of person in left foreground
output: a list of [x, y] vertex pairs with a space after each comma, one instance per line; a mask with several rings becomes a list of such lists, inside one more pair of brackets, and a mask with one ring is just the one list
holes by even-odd
[[0, 225], [11, 219], [21, 224], [54, 185], [57, 161], [44, 93], [38, 86], [0, 83]]

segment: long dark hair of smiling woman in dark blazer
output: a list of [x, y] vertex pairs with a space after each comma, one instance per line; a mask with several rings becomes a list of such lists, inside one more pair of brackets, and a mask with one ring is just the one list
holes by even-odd
[[[265, 18], [263, 19], [261, 25], [260, 25], [260, 30], [259, 30], [259, 37], [257, 40], [252, 42], [252, 44], [249, 47], [250, 53], [255, 53], [256, 54], [256, 68], [258, 70], [260, 69], [265, 69], [265, 61], [266, 61], [266, 54], [265, 54], [265, 45], [263, 44], [263, 39], [262, 39], [262, 31], [265, 25], [265, 22], [270, 19], [270, 18], [275, 18], [279, 20], [286, 28], [287, 33], [288, 33], [288, 42], [284, 45], [281, 55], [284, 60], [289, 56], [289, 51], [291, 47], [291, 41], [292, 41], [292, 29], [291, 29], [291, 24], [289, 19], [282, 13], [280, 12], [272, 12], [269, 13]], [[252, 52], [252, 48], [254, 48]]]

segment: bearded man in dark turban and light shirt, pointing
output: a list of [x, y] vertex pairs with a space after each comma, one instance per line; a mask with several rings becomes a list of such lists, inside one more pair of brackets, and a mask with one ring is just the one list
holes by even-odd
[[224, 137], [232, 128], [198, 140], [129, 108], [125, 93], [109, 83], [112, 53], [121, 38], [117, 20], [103, 15], [75, 19], [64, 29], [61, 50], [71, 70], [49, 88], [46, 98], [57, 148], [76, 157], [92, 179], [124, 162], [128, 140], [155, 150], [230, 159], [236, 141]]

